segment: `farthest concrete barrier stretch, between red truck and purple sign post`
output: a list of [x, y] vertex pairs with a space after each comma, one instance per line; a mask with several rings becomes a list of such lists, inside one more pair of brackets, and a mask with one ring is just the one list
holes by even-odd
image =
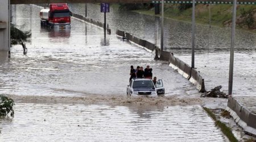
[[[80, 19], [80, 20], [84, 20], [84, 21], [87, 22], [87, 23], [94, 24], [95, 26], [104, 28], [104, 23], [99, 22], [99, 21], [96, 21], [96, 20], [94, 20], [94, 19], [86, 18], [85, 16], [76, 14], [76, 13], [74, 13], [74, 12], [72, 12], [72, 16], [73, 16], [74, 18], [77, 18], [77, 19]], [[109, 24], [106, 25], [106, 31], [108, 32], [108, 34], [111, 34], [111, 30], [110, 30], [110, 28], [109, 28]]]

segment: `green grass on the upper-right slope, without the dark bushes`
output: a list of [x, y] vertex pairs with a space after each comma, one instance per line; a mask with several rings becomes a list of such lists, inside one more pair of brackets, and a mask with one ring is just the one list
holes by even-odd
[[[242, 9], [244, 11], [256, 10], [255, 5], [238, 5], [237, 17], [241, 15]], [[211, 25], [224, 27], [224, 22], [232, 20], [233, 5], [210, 5], [211, 16], [209, 17], [209, 6], [198, 4], [196, 5], [196, 23], [209, 24], [209, 18], [211, 19]], [[154, 9], [151, 10], [134, 10], [141, 14], [147, 14], [152, 16], [161, 16], [154, 14]], [[182, 20], [185, 22], [192, 22], [192, 8], [180, 11], [177, 9], [177, 4], [170, 4], [164, 6], [164, 17], [176, 20]], [[256, 20], [256, 19], [255, 19]], [[239, 27], [238, 29], [248, 30], [246, 27]], [[255, 30], [254, 30], [255, 31]]]

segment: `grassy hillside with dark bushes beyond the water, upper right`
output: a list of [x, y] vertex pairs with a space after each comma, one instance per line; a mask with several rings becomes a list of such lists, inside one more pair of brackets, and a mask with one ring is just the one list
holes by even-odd
[[[164, 17], [191, 22], [192, 5], [170, 4], [164, 6]], [[209, 16], [210, 9], [210, 16]], [[228, 27], [232, 23], [233, 5], [196, 5], [196, 23]], [[141, 14], [154, 15], [154, 7], [147, 10], [133, 10]], [[160, 15], [156, 15], [160, 16]], [[237, 28], [256, 32], [256, 6], [237, 6]]]

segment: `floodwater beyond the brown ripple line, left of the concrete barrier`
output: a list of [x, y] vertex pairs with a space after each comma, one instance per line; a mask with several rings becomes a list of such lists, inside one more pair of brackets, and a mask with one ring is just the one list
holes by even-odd
[[31, 30], [32, 37], [27, 43], [27, 56], [22, 54], [20, 45], [15, 45], [10, 61], [1, 59], [0, 93], [126, 95], [130, 65], [150, 65], [153, 76], [163, 79], [166, 95], [196, 93], [195, 86], [167, 62], [155, 61], [153, 53], [122, 41], [115, 34], [104, 38], [102, 28], [76, 19], [72, 19], [71, 30], [47, 30], [40, 27], [38, 11], [42, 7], [14, 8], [17, 12], [13, 12], [13, 22]]

